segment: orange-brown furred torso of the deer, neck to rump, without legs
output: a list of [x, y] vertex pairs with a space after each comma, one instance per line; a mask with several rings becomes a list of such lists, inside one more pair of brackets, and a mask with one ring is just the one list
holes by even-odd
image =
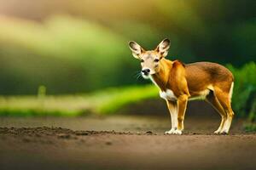
[[209, 85], [229, 93], [234, 82], [232, 73], [222, 65], [210, 62], [183, 65], [168, 59], [161, 59], [160, 71], [152, 77], [162, 91], [172, 89], [176, 96], [187, 94], [189, 97], [199, 95]]

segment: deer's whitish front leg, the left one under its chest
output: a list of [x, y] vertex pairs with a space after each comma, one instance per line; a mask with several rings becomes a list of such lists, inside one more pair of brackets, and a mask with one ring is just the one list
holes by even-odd
[[171, 130], [166, 131], [165, 134], [172, 134], [177, 129], [177, 102], [166, 99], [166, 103], [171, 115], [172, 128]]

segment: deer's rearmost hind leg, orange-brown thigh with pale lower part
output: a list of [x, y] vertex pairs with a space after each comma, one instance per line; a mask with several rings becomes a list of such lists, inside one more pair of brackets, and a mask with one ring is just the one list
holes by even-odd
[[230, 93], [225, 93], [222, 90], [216, 90], [216, 96], [220, 105], [224, 108], [227, 114], [227, 119], [224, 122], [224, 127], [221, 129], [220, 133], [227, 134], [230, 131], [231, 122], [234, 116], [234, 111], [231, 108], [231, 95]]

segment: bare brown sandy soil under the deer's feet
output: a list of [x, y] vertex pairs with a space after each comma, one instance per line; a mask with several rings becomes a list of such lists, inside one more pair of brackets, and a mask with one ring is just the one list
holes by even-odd
[[0, 169], [255, 169], [256, 134], [218, 121], [188, 116], [177, 136], [168, 116], [0, 118]]

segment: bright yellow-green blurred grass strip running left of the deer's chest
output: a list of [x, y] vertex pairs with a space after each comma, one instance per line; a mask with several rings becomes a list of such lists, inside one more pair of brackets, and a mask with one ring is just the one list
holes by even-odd
[[0, 97], [0, 116], [113, 114], [125, 105], [158, 96], [153, 85], [108, 88], [87, 95]]

